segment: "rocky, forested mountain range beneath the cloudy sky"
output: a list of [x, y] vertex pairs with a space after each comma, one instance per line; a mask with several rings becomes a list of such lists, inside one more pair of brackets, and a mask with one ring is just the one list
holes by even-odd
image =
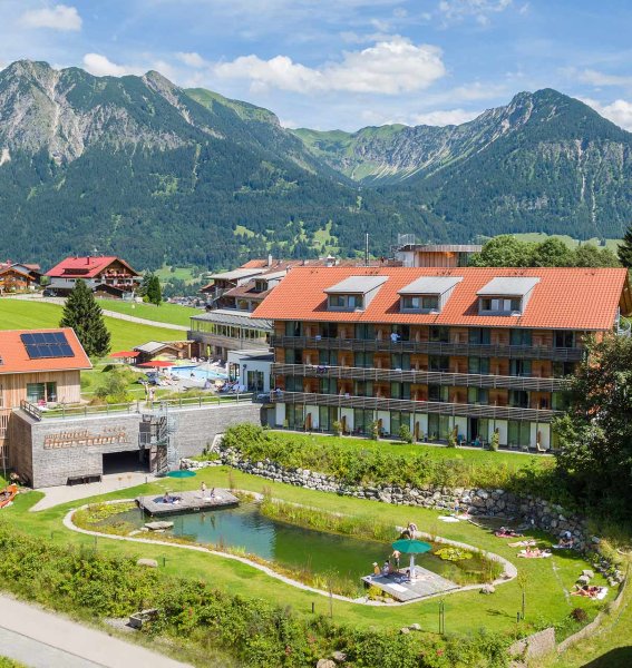
[[0, 71], [0, 257], [114, 253], [140, 268], [376, 255], [419, 240], [620, 237], [632, 134], [552, 89], [459, 126], [283, 128], [266, 109], [158, 72]]

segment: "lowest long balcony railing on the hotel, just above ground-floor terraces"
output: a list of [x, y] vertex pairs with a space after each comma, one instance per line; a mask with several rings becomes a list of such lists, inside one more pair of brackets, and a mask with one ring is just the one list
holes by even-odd
[[403, 411], [406, 413], [438, 413], [440, 415], [464, 415], [469, 418], [492, 418], [495, 420], [522, 420], [531, 422], [551, 422], [555, 415], [561, 414], [561, 411], [550, 411], [544, 409], [517, 409], [512, 406], [284, 391], [272, 392], [271, 401], [289, 404], [312, 404], [319, 406], [339, 406], [372, 411]]

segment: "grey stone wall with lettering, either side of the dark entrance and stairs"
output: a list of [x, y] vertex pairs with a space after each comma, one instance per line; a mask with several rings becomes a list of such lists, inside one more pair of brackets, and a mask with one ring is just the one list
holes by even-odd
[[[171, 414], [181, 456], [198, 454], [229, 426], [261, 423], [261, 405], [251, 402], [174, 409]], [[10, 420], [12, 466], [36, 488], [101, 475], [104, 454], [139, 451], [140, 420], [140, 413], [98, 413], [37, 421], [17, 411]]]

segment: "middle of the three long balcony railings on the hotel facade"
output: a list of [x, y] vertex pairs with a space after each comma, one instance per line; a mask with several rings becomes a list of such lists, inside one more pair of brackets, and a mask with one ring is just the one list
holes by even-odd
[[564, 379], [534, 376], [504, 376], [492, 374], [449, 373], [443, 371], [401, 371], [360, 366], [313, 366], [311, 364], [273, 364], [274, 375], [292, 375], [354, 381], [385, 381], [420, 385], [451, 385], [459, 387], [498, 387], [512, 390], [555, 392], [566, 385]]

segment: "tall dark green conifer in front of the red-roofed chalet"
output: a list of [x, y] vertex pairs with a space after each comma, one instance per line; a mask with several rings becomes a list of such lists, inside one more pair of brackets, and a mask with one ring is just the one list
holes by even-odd
[[89, 357], [104, 357], [109, 353], [109, 332], [104, 314], [84, 281], [77, 281], [68, 295], [59, 326], [75, 330]]

